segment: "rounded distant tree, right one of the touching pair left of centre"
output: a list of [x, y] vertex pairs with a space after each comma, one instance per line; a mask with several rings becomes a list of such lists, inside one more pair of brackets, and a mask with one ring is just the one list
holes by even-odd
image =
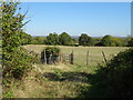
[[62, 32], [59, 36], [59, 42], [62, 46], [72, 46], [73, 44], [71, 36], [69, 36], [66, 32]]

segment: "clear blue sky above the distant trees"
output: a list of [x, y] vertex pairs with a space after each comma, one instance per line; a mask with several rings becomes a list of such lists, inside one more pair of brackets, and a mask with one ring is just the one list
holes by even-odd
[[131, 34], [130, 2], [22, 2], [20, 7], [22, 12], [29, 11], [25, 20], [31, 21], [24, 30], [31, 36]]

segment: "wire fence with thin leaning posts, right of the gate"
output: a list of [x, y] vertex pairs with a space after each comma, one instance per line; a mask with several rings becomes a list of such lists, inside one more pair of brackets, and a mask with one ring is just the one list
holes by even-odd
[[[84, 53], [73, 52], [73, 64], [98, 66], [98, 64], [101, 64], [103, 62], [106, 62], [111, 58], [112, 58], [112, 56], [111, 54], [105, 54], [104, 51], [101, 51], [101, 53], [99, 53], [99, 54], [90, 53], [89, 50]], [[63, 58], [63, 59], [66, 59], [66, 58]]]

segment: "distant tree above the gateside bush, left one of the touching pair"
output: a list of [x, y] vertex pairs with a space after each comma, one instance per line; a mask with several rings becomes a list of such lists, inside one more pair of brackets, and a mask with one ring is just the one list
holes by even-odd
[[52, 44], [52, 46], [59, 44], [59, 36], [55, 32], [50, 33], [47, 37], [47, 44]]

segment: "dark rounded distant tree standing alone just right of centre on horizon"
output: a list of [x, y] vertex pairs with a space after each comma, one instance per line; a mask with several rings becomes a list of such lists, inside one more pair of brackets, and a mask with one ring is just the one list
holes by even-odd
[[93, 39], [91, 37], [89, 37], [85, 33], [82, 33], [79, 37], [79, 43], [80, 43], [80, 46], [93, 46], [94, 42], [93, 42]]

